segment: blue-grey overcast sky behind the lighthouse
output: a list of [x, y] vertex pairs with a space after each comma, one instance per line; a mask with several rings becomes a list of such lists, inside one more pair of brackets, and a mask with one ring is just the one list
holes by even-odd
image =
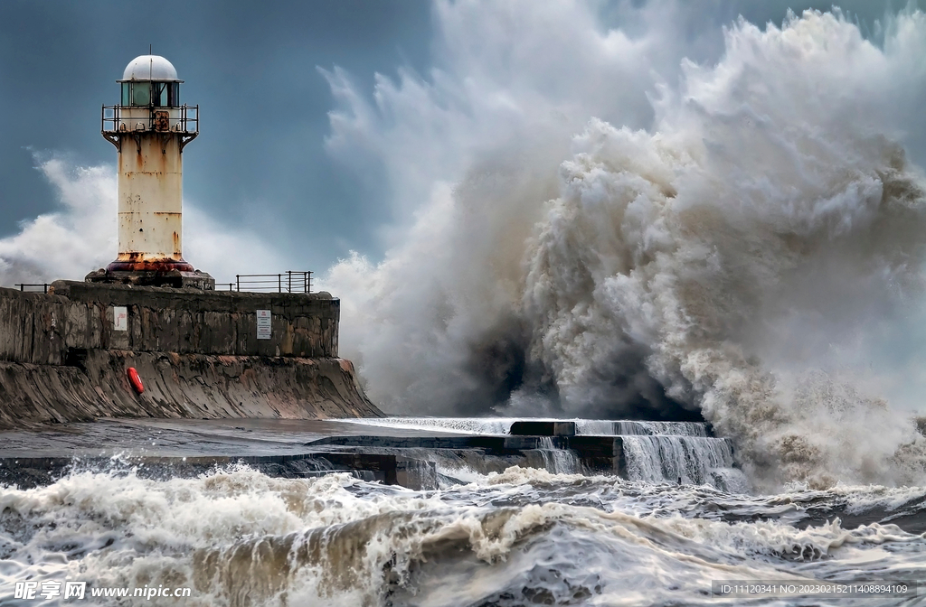
[[[843, 3], [863, 31], [887, 5]], [[712, 0], [699, 6], [719, 25], [738, 13], [780, 23], [788, 6], [800, 11], [830, 3]], [[618, 7], [603, 3], [601, 10], [619, 16]], [[41, 160], [115, 164], [114, 148], [99, 134], [100, 106], [119, 102], [115, 81], [149, 43], [185, 81], [183, 101], [201, 107], [201, 136], [184, 154], [186, 199], [225, 225], [257, 229], [293, 256], [295, 266], [324, 270], [351, 249], [382, 255], [381, 228], [393, 220], [383, 204], [389, 185], [375, 162], [354, 164], [326, 152], [335, 100], [319, 68], [343, 68], [367, 95], [377, 73], [396, 79], [407, 69], [428, 81], [442, 67], [441, 41], [433, 6], [421, 0], [3, 0], [0, 237], [56, 208], [54, 188], [35, 168]], [[279, 269], [288, 268], [267, 271]]]

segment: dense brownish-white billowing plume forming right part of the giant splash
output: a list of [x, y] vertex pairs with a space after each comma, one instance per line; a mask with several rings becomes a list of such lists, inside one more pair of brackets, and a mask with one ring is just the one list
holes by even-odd
[[913, 325], [922, 291], [923, 180], [863, 75], [892, 54], [832, 14], [726, 37], [655, 134], [594, 120], [576, 138], [525, 255], [532, 356], [573, 407], [613, 402], [643, 360], [759, 477], [910, 482], [912, 423], [838, 377], [883, 319]]

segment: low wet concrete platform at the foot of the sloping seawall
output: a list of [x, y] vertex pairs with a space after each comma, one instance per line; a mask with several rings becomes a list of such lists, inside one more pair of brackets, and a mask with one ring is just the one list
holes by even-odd
[[0, 482], [41, 485], [81, 469], [184, 477], [244, 464], [270, 476], [348, 472], [388, 485], [437, 489], [438, 464], [500, 473], [512, 465], [544, 467], [551, 449], [569, 450], [579, 463], [576, 472], [626, 477], [623, 443], [613, 436], [461, 435], [349, 419], [147, 418], [0, 431]]

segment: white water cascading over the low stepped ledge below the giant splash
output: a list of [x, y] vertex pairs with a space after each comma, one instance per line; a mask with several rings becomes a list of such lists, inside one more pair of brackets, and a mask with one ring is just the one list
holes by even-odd
[[[353, 436], [326, 444], [363, 448], [418, 448], [441, 451], [479, 449], [489, 457], [468, 459], [474, 472], [497, 472], [495, 456], [519, 457], [518, 465], [555, 474], [616, 475], [632, 481], [710, 485], [746, 490], [748, 481], [736, 467], [732, 441], [712, 436], [703, 422], [628, 420], [556, 420], [507, 417], [387, 417], [352, 420], [373, 427], [430, 430], [427, 439]], [[456, 436], [454, 436], [456, 435]], [[515, 465], [508, 462], [507, 465]], [[444, 462], [444, 465], [446, 463]]]

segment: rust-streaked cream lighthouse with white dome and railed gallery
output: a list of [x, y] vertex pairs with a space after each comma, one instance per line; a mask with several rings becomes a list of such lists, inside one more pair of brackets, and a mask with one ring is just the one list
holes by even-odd
[[177, 70], [162, 56], [131, 60], [104, 105], [101, 132], [119, 154], [119, 255], [94, 282], [215, 288], [183, 259], [183, 150], [199, 135], [199, 106], [181, 104]]

